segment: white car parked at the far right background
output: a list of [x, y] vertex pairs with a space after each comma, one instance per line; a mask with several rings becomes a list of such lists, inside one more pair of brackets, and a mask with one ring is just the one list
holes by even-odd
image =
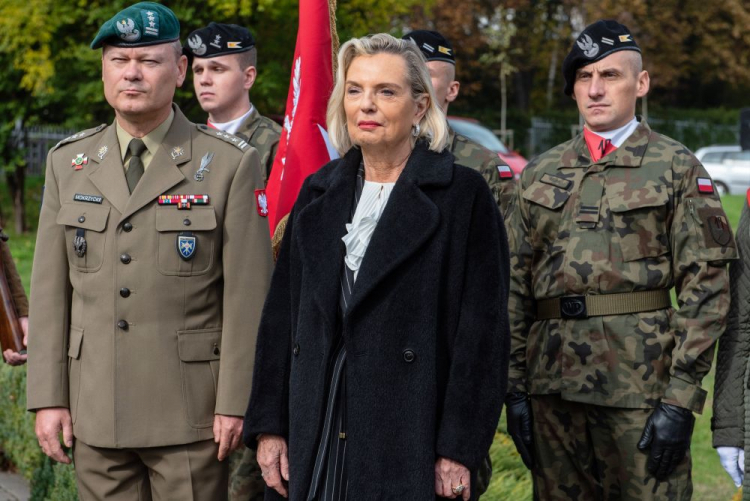
[[719, 195], [744, 195], [750, 189], [750, 150], [739, 146], [706, 146], [695, 152]]

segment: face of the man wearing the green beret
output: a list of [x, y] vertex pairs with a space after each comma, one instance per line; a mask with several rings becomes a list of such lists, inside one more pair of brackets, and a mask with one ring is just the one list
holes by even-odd
[[118, 117], [133, 122], [163, 115], [186, 71], [187, 58], [178, 57], [168, 43], [134, 48], [105, 45], [102, 52], [104, 96]]

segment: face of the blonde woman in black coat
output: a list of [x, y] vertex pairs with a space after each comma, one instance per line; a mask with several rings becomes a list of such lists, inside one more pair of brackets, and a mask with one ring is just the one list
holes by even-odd
[[346, 74], [344, 110], [354, 144], [364, 149], [411, 148], [411, 129], [427, 110], [427, 96], [416, 101], [412, 97], [401, 56], [359, 56]]

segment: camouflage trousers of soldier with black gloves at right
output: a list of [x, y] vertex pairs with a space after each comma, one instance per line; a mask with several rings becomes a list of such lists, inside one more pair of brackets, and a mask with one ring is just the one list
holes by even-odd
[[621, 409], [531, 397], [541, 501], [683, 501], [693, 493], [691, 458], [665, 481], [646, 471], [648, 451], [636, 447], [653, 409]]

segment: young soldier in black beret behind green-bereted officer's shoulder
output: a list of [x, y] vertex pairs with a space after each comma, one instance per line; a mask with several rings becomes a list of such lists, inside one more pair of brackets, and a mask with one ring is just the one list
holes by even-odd
[[250, 102], [248, 93], [258, 75], [255, 38], [242, 26], [210, 23], [190, 34], [184, 50], [193, 61], [195, 96], [208, 112], [209, 127], [234, 134], [257, 149], [267, 181], [281, 126]]

